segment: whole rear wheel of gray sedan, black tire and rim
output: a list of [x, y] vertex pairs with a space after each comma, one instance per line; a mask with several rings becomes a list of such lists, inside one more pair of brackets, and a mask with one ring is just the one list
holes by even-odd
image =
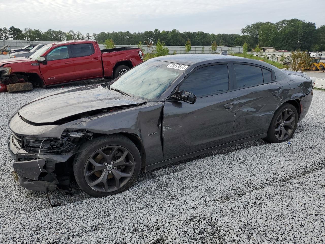
[[[289, 117], [286, 118], [287, 115]], [[292, 117], [294, 121], [290, 122]], [[273, 115], [265, 140], [270, 143], [279, 143], [291, 139], [297, 128], [298, 119], [297, 109], [292, 104], [282, 104]]]

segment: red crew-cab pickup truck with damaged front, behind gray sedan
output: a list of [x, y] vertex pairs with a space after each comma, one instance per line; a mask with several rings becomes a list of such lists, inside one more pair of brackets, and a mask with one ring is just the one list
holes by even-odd
[[117, 77], [143, 61], [140, 48], [100, 50], [89, 40], [51, 43], [29, 58], [0, 61], [0, 92], [6, 85], [30, 82], [47, 86], [106, 77]]

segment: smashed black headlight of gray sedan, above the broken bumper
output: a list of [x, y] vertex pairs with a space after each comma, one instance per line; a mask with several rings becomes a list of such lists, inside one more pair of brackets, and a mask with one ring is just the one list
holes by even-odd
[[91, 140], [92, 133], [85, 131], [63, 131], [61, 138], [23, 138], [23, 147], [30, 152], [64, 153], [77, 148], [80, 140]]

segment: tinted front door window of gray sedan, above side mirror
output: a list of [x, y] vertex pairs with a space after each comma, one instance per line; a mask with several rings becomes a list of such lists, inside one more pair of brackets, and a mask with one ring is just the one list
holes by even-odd
[[180, 86], [180, 91], [192, 92], [197, 97], [213, 95], [229, 89], [227, 64], [200, 68], [192, 73]]

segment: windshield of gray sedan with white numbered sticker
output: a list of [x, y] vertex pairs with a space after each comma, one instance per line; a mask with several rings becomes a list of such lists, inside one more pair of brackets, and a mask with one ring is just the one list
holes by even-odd
[[110, 89], [118, 89], [131, 97], [156, 101], [187, 67], [148, 60], [117, 78]]

